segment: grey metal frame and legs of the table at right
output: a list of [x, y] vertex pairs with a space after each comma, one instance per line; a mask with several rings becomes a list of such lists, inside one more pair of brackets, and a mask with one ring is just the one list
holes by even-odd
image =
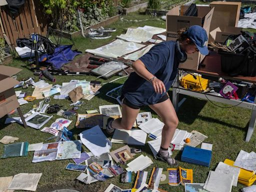
[[[208, 93], [205, 93], [207, 95], [207, 98], [206, 98], [205, 94], [202, 92], [195, 92], [192, 90], [184, 89], [183, 87], [179, 86], [179, 78], [180, 78], [179, 74], [178, 74], [178, 77], [175, 78], [175, 81], [173, 82], [173, 89], [172, 89], [172, 104], [176, 111], [178, 111], [181, 104], [185, 101], [185, 98], [183, 98], [181, 101], [178, 101], [179, 94], [194, 96], [194, 97], [198, 97], [198, 98], [202, 98], [202, 99], [208, 98], [209, 100], [212, 100], [212, 101], [217, 101], [217, 102], [230, 104], [230, 105], [237, 105], [241, 102], [241, 100], [226, 99], [226, 98], [223, 98], [220, 96], [215, 96], [215, 95], [208, 94]], [[252, 110], [248, 130], [247, 130], [247, 135], [245, 138], [245, 141], [249, 142], [249, 140], [252, 136], [253, 130], [254, 130], [255, 122], [256, 122], [256, 97], [254, 99], [254, 103], [243, 101], [238, 106]]]

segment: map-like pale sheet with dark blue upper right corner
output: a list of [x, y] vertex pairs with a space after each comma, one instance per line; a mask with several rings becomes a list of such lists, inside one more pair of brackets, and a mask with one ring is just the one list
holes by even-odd
[[68, 158], [80, 158], [81, 156], [81, 141], [70, 140], [62, 141], [58, 144], [57, 160]]

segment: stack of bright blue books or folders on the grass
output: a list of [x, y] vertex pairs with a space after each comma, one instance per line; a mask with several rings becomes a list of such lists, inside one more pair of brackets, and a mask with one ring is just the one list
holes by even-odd
[[185, 146], [181, 155], [181, 161], [203, 166], [210, 165], [211, 150]]

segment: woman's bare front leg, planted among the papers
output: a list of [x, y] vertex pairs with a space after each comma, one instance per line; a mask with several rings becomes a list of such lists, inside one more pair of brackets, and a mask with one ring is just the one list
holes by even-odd
[[162, 129], [161, 147], [168, 148], [175, 129], [178, 125], [178, 117], [176, 115], [175, 109], [170, 99], [149, 105], [149, 107], [161, 117], [164, 123]]

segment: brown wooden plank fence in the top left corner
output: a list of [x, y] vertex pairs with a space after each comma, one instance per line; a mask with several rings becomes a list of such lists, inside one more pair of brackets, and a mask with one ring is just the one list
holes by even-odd
[[47, 33], [47, 19], [39, 0], [26, 0], [15, 15], [6, 6], [1, 6], [0, 17], [3, 26], [0, 28], [0, 37], [3, 38], [5, 32], [8, 44], [16, 46], [17, 38], [29, 37], [31, 33], [44, 36]]

